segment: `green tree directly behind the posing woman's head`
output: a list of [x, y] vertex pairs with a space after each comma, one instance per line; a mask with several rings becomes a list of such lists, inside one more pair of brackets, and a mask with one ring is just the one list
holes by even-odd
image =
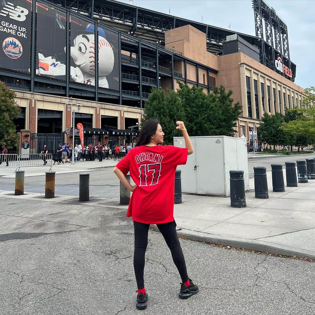
[[184, 121], [185, 114], [177, 93], [173, 90], [169, 90], [168, 93], [169, 97], [166, 97], [163, 89], [152, 89], [144, 106], [144, 118], [141, 125], [147, 120], [158, 119], [165, 133], [164, 143], [173, 144], [173, 137], [181, 135], [181, 132], [176, 130], [176, 121]]

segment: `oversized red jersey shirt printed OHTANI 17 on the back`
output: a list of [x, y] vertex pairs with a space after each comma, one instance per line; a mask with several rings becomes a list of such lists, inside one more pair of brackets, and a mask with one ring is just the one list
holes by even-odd
[[136, 146], [116, 167], [130, 172], [137, 187], [131, 195], [127, 217], [148, 224], [174, 220], [176, 166], [186, 164], [188, 149], [176, 146]]

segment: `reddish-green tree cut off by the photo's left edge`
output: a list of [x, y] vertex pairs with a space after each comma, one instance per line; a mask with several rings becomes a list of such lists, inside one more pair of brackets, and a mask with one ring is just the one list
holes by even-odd
[[20, 114], [20, 107], [14, 97], [15, 93], [0, 81], [0, 144], [8, 148], [15, 146], [19, 140], [13, 119]]

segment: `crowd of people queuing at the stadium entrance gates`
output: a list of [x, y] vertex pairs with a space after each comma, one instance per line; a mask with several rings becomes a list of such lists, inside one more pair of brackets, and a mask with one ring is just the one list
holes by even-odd
[[[131, 148], [135, 146], [131, 143], [121, 144], [120, 146], [115, 143], [112, 146], [109, 144], [102, 145], [98, 142], [96, 145], [89, 143], [84, 146], [83, 143], [76, 144], [74, 147], [74, 162], [82, 161], [95, 161], [102, 162], [103, 159], [118, 159], [124, 157]], [[46, 145], [44, 146], [41, 154], [47, 154]], [[61, 158], [65, 163], [72, 162], [72, 143], [58, 144], [56, 157]], [[45, 162], [45, 161], [44, 161]]]

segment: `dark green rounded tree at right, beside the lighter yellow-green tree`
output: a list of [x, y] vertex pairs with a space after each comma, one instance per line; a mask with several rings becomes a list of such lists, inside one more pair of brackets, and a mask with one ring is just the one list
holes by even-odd
[[261, 125], [258, 127], [258, 132], [260, 133], [261, 140], [265, 143], [275, 146], [284, 145], [287, 142], [287, 134], [284, 130], [279, 129], [284, 123], [284, 116], [281, 113], [275, 113], [274, 115], [269, 115], [264, 112], [261, 117]]

